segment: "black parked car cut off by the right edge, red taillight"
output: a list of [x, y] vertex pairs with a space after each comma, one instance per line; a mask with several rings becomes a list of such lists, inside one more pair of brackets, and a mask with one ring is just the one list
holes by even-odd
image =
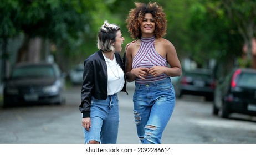
[[217, 85], [213, 115], [228, 118], [231, 113], [256, 116], [256, 70], [236, 68]]

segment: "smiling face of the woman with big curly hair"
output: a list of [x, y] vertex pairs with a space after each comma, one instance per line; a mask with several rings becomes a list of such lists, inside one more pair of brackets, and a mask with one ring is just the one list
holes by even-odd
[[142, 37], [147, 38], [155, 35], [156, 23], [151, 13], [144, 14], [144, 18], [140, 24], [140, 29]]

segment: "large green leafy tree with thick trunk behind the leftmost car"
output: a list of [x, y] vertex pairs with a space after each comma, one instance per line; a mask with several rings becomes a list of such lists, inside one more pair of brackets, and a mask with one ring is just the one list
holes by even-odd
[[[9, 0], [0, 3], [0, 39], [2, 55], [11, 55], [6, 50], [8, 39], [24, 35], [18, 50], [17, 62], [40, 61], [40, 45], [43, 40], [74, 49], [80, 44], [81, 33], [90, 32], [91, 3], [76, 0], [29, 1]], [[37, 44], [35, 44], [37, 43]], [[42, 45], [43, 46], [43, 45]], [[58, 51], [59, 53], [64, 53]], [[72, 50], [66, 50], [71, 52]], [[6, 64], [7, 56], [2, 60]], [[2, 65], [3, 66], [3, 65]], [[2, 69], [3, 73], [5, 72]]]

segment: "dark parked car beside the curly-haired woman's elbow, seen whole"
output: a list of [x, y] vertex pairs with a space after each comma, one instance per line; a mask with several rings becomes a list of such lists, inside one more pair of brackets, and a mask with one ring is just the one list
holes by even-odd
[[184, 71], [176, 84], [176, 96], [184, 94], [204, 96], [207, 101], [213, 100], [216, 81], [211, 70], [193, 69]]

